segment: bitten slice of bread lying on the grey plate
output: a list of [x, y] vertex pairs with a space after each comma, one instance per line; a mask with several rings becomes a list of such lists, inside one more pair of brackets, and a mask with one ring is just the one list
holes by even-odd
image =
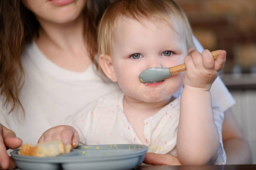
[[24, 144], [20, 147], [19, 154], [36, 157], [52, 157], [69, 153], [71, 148], [72, 146], [70, 144], [64, 146], [62, 141], [52, 140], [37, 145]]

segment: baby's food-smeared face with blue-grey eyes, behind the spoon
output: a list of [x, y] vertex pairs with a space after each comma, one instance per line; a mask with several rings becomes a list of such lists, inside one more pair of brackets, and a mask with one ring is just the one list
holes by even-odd
[[120, 88], [126, 96], [145, 102], [169, 98], [182, 86], [183, 74], [156, 84], [143, 84], [141, 71], [151, 67], [172, 67], [184, 63], [186, 41], [179, 24], [131, 18], [118, 20], [111, 57]]

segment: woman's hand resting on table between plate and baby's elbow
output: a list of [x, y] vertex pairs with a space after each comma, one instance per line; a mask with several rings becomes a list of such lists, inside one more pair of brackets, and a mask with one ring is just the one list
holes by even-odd
[[143, 163], [148, 165], [182, 165], [176, 156], [159, 153], [146, 153]]

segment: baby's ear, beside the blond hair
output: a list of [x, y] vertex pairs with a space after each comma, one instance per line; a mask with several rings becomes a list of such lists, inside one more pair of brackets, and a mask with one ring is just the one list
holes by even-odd
[[100, 54], [99, 63], [104, 74], [113, 82], [117, 81], [115, 69], [113, 67], [112, 58], [106, 54]]

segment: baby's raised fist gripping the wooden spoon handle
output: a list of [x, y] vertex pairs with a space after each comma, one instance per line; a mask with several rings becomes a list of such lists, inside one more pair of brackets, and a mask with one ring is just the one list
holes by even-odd
[[204, 50], [202, 54], [192, 51], [184, 58], [187, 71], [183, 76], [184, 86], [192, 86], [209, 91], [212, 83], [223, 69], [226, 60], [226, 51], [220, 51], [218, 58], [214, 61], [209, 50]]

